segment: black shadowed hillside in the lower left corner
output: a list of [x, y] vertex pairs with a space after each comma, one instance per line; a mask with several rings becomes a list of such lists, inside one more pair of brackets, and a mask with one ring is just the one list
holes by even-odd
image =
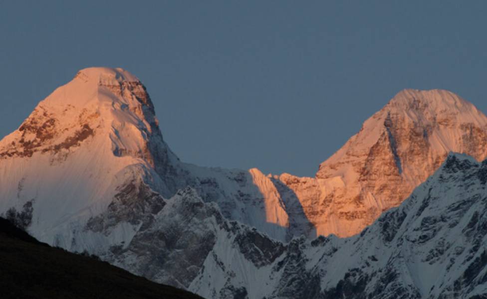
[[0, 218], [1, 298], [198, 299], [94, 258], [38, 242]]

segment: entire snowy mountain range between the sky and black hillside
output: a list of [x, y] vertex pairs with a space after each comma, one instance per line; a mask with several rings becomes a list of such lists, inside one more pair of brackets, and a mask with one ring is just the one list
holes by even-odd
[[88, 68], [0, 142], [0, 213], [206, 298], [485, 298], [486, 157], [471, 103], [404, 90], [315, 177], [200, 167], [134, 75]]

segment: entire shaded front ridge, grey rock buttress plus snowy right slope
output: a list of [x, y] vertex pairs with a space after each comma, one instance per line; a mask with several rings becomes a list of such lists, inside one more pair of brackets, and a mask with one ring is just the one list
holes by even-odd
[[360, 234], [289, 243], [229, 221], [187, 187], [148, 209], [128, 244], [94, 253], [205, 298], [485, 298], [486, 183], [487, 160], [451, 154]]

